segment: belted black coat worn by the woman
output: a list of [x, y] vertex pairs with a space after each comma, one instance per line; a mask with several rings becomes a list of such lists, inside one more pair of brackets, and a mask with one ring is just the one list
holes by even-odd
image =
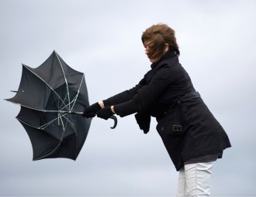
[[[178, 171], [184, 161], [231, 147], [226, 132], [201, 97], [178, 102], [188, 93], [195, 93], [195, 88], [178, 56], [170, 51], [152, 63], [137, 86], [103, 102], [114, 105], [121, 117], [137, 112], [140, 128], [145, 130], [149, 130], [148, 116], [156, 117], [157, 132]], [[174, 132], [173, 125], [182, 126], [182, 132]]]

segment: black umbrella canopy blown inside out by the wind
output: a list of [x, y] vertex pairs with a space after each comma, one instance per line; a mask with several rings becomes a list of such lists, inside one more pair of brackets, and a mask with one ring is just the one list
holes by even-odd
[[54, 51], [37, 68], [22, 64], [16, 117], [33, 146], [33, 160], [78, 157], [92, 119], [81, 114], [89, 106], [85, 74], [73, 70]]

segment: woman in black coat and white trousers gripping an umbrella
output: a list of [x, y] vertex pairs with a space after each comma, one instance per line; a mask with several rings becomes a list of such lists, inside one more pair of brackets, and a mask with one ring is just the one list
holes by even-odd
[[84, 116], [108, 119], [137, 113], [145, 134], [150, 117], [156, 117], [157, 132], [179, 171], [177, 196], [209, 196], [213, 161], [231, 147], [229, 138], [178, 62], [175, 31], [152, 25], [141, 39], [151, 70], [132, 89], [92, 104]]

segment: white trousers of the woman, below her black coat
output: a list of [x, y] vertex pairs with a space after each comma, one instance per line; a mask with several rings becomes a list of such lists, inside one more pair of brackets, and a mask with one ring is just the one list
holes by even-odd
[[185, 165], [179, 171], [177, 197], [210, 196], [213, 162]]

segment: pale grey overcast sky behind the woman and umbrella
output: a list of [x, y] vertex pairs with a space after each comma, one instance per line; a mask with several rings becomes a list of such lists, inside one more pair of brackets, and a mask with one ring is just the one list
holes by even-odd
[[212, 195], [255, 195], [256, 1], [0, 0], [0, 195], [175, 195], [178, 173], [150, 125], [132, 116], [92, 120], [77, 161], [32, 161], [29, 137], [15, 117], [22, 63], [55, 49], [85, 73], [90, 103], [133, 87], [150, 69], [141, 33], [167, 23], [180, 62], [223, 125], [233, 148], [214, 166]]

